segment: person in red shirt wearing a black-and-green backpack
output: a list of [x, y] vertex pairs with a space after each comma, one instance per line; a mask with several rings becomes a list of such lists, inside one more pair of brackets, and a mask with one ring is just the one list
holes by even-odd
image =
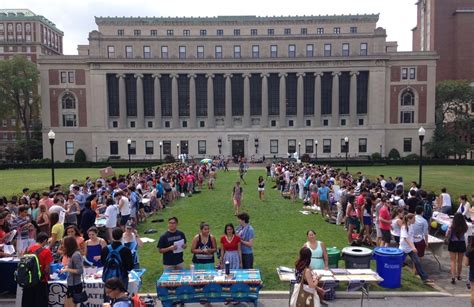
[[40, 263], [41, 270], [41, 281], [30, 288], [23, 288], [23, 297], [21, 301], [22, 307], [48, 307], [48, 279], [49, 279], [49, 266], [53, 262], [53, 254], [46, 247], [48, 244], [48, 235], [44, 232], [40, 232], [36, 236], [36, 244], [31, 245], [27, 253], [34, 254], [36, 250], [43, 248], [38, 254], [38, 260]]

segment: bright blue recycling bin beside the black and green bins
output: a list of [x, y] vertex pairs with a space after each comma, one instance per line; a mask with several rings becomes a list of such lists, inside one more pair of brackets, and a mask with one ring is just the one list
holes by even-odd
[[400, 288], [405, 253], [398, 248], [377, 247], [374, 250], [374, 259], [377, 262], [377, 273], [383, 278], [380, 286]]

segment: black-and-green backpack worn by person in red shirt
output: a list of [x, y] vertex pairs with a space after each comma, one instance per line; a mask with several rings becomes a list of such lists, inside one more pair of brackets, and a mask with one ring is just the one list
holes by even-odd
[[18, 267], [15, 271], [15, 281], [22, 288], [31, 288], [41, 281], [41, 267], [38, 255], [44, 250], [38, 248], [32, 254], [25, 254], [21, 257]]

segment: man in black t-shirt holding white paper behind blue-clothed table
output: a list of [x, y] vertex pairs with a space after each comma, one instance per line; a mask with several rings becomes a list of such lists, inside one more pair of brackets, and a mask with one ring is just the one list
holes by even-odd
[[178, 218], [168, 219], [168, 230], [158, 241], [158, 251], [163, 254], [163, 268], [166, 270], [182, 270], [184, 268], [183, 252], [186, 249], [186, 236], [177, 229]]

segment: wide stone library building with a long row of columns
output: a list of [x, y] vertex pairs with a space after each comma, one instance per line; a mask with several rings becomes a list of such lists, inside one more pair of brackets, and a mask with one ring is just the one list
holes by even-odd
[[[436, 54], [396, 52], [378, 15], [98, 17], [77, 56], [41, 57], [45, 156], [89, 160], [417, 152]], [[64, 78], [63, 78], [64, 77]], [[315, 143], [317, 141], [317, 145]]]

